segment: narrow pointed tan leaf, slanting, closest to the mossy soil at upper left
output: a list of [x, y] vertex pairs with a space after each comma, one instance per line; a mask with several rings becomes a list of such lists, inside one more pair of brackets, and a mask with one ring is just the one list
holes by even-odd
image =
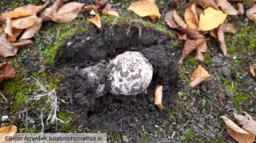
[[31, 27], [28, 27], [22, 34], [20, 40], [33, 37], [42, 27], [42, 19], [39, 18]]

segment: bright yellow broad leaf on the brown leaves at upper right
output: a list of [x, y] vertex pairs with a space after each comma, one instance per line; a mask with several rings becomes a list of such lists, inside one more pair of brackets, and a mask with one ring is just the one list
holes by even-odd
[[227, 14], [220, 10], [208, 7], [201, 13], [197, 30], [208, 31], [218, 27], [226, 19]]

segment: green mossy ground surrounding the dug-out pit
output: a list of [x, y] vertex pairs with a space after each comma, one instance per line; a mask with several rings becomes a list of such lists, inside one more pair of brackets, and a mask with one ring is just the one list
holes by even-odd
[[[168, 37], [175, 38], [176, 40], [170, 41], [169, 45], [172, 48], [179, 48], [180, 53], [182, 52], [182, 44], [176, 37], [175, 31], [168, 28], [165, 24], [164, 16], [159, 20], [151, 21], [148, 17], [141, 18], [132, 12], [126, 11], [125, 9], [131, 2], [126, 3], [122, 0], [113, 0], [111, 3], [114, 7], [122, 9], [120, 13], [122, 16], [126, 16], [126, 18], [122, 16], [117, 18], [102, 15], [103, 28], [111, 28], [113, 25], [122, 26], [127, 24], [136, 27], [150, 27]], [[168, 3], [165, 0], [156, 0], [156, 3], [160, 8], [161, 13], [167, 12]], [[39, 0], [13, 0], [11, 2], [13, 7], [8, 7], [8, 10], [25, 4], [42, 4], [42, 2]], [[185, 5], [186, 3], [183, 3], [183, 5], [180, 5], [177, 8], [180, 15], [184, 15]], [[7, 10], [6, 7], [2, 5], [0, 5], [0, 9]], [[17, 71], [15, 78], [4, 80], [0, 83], [0, 91], [11, 100], [11, 102], [7, 104], [1, 103], [0, 108], [8, 111], [0, 113], [1, 116], [5, 114], [12, 116], [15, 113], [21, 112], [21, 110], [24, 110], [28, 105], [29, 111], [34, 110], [33, 108], [42, 109], [45, 106], [46, 99], [25, 103], [26, 99], [31, 98], [32, 93], [40, 93], [40, 87], [30, 76], [35, 77], [42, 84], [47, 85], [48, 90], [53, 90], [60, 86], [60, 81], [65, 77], [57, 73], [49, 73], [46, 64], [54, 64], [56, 51], [58, 50], [58, 47], [65, 43], [65, 40], [76, 33], [89, 31], [88, 28], [91, 27], [91, 23], [86, 20], [87, 17], [90, 16], [81, 13], [76, 20], [69, 23], [44, 23], [41, 29], [42, 32], [39, 33], [39, 36], [32, 39], [34, 41], [33, 46], [20, 48], [18, 53], [19, 57], [0, 59], [1, 63], [8, 61], [14, 64], [14, 69]], [[175, 103], [172, 106], [173, 111], [169, 119], [167, 119], [163, 125], [159, 125], [158, 128], [155, 128], [154, 133], [152, 133], [156, 134], [156, 138], [159, 140], [166, 139], [166, 136], [172, 136], [173, 131], [175, 130], [175, 137], [184, 143], [192, 141], [196, 143], [209, 141], [212, 143], [224, 143], [226, 140], [232, 139], [228, 136], [226, 130], [224, 130], [224, 124], [218, 117], [224, 114], [230, 116], [233, 111], [236, 113], [243, 110], [247, 112], [250, 110], [256, 111], [256, 94], [253, 88], [249, 88], [249, 86], [256, 86], [255, 78], [249, 73], [248, 68], [250, 64], [256, 63], [256, 26], [252, 21], [244, 24], [244, 19], [245, 15], [228, 17], [228, 21], [233, 23], [239, 31], [236, 34], [225, 33], [225, 41], [228, 48], [228, 56], [225, 58], [225, 61], [228, 62], [228, 68], [231, 70], [230, 76], [223, 76], [219, 70], [221, 67], [211, 67], [212, 57], [219, 55], [221, 50], [217, 39], [210, 36], [207, 36], [207, 38], [209, 38], [207, 41], [209, 51], [208, 53], [203, 54], [206, 61], [201, 63], [203, 67], [212, 74], [210, 80], [203, 82], [200, 86], [197, 86], [194, 89], [189, 87], [190, 76], [200, 64], [194, 60], [195, 53], [192, 53], [179, 65], [180, 81], [183, 86], [179, 95], [176, 96]], [[56, 35], [58, 32], [60, 32], [59, 35]], [[31, 64], [31, 62], [33, 62], [33, 64]], [[32, 66], [29, 66], [30, 64]], [[213, 87], [213, 85], [216, 86]], [[202, 95], [200, 93], [202, 92], [201, 90], [203, 86], [207, 87], [207, 91], [203, 91], [205, 93]], [[231, 112], [226, 111], [227, 109], [225, 107], [218, 105], [218, 101], [216, 100], [219, 89], [224, 89], [225, 87], [233, 93], [232, 97], [226, 97], [223, 101], [226, 106], [230, 107], [229, 110], [231, 110]], [[198, 112], [194, 112], [195, 108]], [[194, 130], [196, 123], [205, 126], [210, 123], [209, 120], [204, 118], [204, 116], [209, 114], [214, 116], [213, 120], [223, 128], [223, 136], [209, 138], [209, 136], [207, 136], [207, 129], [202, 129], [199, 132]], [[69, 120], [70, 118], [75, 118], [77, 115], [74, 115], [74, 113], [70, 111], [61, 110], [58, 113], [58, 116], [61, 120]], [[18, 125], [20, 133], [28, 132], [28, 130], [40, 132], [41, 126], [37, 126], [35, 129], [28, 126], [27, 130], [25, 121], [17, 121], [18, 119], [15, 118], [15, 116], [12, 116], [11, 122], [6, 122], [5, 125]], [[184, 130], [181, 130], [180, 126], [186, 124], [188, 120], [195, 120], [196, 123], [193, 124], [193, 122], [189, 122], [183, 127]], [[174, 124], [174, 122], [176, 124]], [[72, 121], [70, 123], [59, 124], [59, 131], [84, 132], [82, 124], [79, 125], [77, 129], [74, 128], [73, 124], [74, 122]], [[53, 126], [54, 128], [54, 125], [49, 126]], [[160, 127], [164, 129], [164, 132], [159, 132]], [[144, 143], [152, 141], [153, 138], [148, 133], [144, 133], [143, 129], [141, 129], [141, 134], [138, 134], [137, 137]], [[116, 141], [117, 143], [121, 143], [122, 135], [118, 133], [113, 134], [112, 136], [109, 136], [109, 140], [110, 142]]]

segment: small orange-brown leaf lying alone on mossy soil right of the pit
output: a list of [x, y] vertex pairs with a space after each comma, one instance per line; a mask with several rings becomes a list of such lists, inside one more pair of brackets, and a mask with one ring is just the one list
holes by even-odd
[[201, 65], [199, 65], [190, 78], [190, 85], [192, 88], [194, 88], [209, 77], [210, 74]]

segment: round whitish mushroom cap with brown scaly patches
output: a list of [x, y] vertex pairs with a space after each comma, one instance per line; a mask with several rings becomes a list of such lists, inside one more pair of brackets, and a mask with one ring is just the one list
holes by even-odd
[[137, 95], [147, 90], [152, 76], [151, 63], [140, 52], [125, 52], [111, 61], [110, 93]]

